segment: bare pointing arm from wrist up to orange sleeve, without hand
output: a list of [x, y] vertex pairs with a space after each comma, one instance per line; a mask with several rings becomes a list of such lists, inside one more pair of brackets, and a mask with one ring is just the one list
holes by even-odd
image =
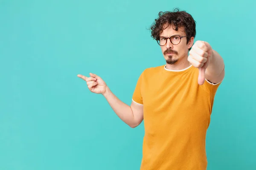
[[130, 127], [137, 127], [143, 121], [143, 105], [138, 105], [133, 101], [131, 106], [126, 105], [119, 100], [108, 87], [102, 95], [107, 99], [116, 115]]

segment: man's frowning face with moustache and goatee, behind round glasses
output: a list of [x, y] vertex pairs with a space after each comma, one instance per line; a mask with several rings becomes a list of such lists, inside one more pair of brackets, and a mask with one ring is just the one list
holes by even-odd
[[[180, 37], [186, 36], [185, 29], [183, 27], [175, 31], [174, 26], [163, 26], [163, 31], [160, 34], [160, 39], [163, 37], [172, 37], [173, 35], [179, 35]], [[163, 39], [164, 40], [164, 39]], [[166, 45], [160, 46], [163, 56], [166, 59], [167, 64], [175, 64], [179, 62], [185, 62], [188, 57], [189, 48], [192, 47], [194, 42], [194, 37], [191, 37], [187, 43], [186, 37], [180, 39], [180, 43], [173, 45], [170, 39], [167, 39]]]

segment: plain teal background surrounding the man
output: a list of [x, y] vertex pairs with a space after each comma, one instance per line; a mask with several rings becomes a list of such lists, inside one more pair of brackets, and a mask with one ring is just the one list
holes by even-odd
[[255, 2], [0, 0], [0, 170], [139, 170], [143, 123], [125, 125], [77, 74], [130, 105], [140, 73], [165, 64], [147, 30], [178, 7], [224, 58], [207, 170], [256, 169]]

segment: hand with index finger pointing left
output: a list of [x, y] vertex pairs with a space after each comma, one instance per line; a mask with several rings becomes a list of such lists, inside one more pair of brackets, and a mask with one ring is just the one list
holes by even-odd
[[87, 82], [88, 88], [91, 92], [96, 94], [104, 94], [106, 92], [106, 83], [96, 74], [90, 73], [90, 77], [85, 77], [81, 74], [78, 74], [77, 77], [80, 77]]

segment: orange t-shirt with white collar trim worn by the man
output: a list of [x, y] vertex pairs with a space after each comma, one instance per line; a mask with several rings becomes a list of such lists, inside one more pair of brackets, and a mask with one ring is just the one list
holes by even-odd
[[218, 84], [198, 85], [198, 68], [165, 65], [140, 75], [133, 101], [143, 105], [140, 170], [206, 170], [206, 132]]

